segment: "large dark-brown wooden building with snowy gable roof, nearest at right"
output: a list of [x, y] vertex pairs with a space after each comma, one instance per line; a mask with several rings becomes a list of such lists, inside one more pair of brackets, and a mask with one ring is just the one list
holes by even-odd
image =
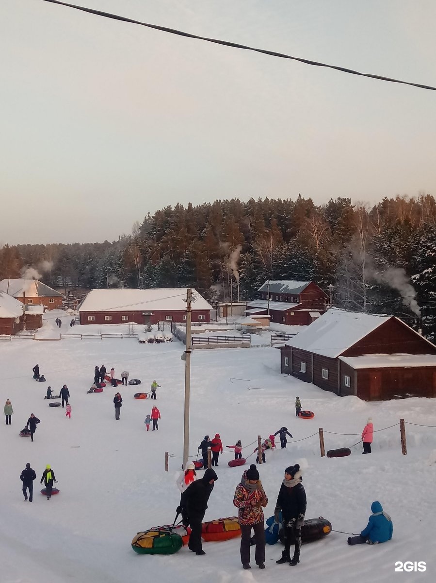
[[436, 396], [436, 346], [394, 316], [331, 308], [280, 350], [282, 373], [336, 395]]

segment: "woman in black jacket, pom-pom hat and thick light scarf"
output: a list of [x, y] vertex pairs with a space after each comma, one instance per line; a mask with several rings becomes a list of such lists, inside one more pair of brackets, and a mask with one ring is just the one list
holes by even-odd
[[[300, 548], [302, 546], [301, 528], [306, 514], [306, 492], [302, 486], [303, 478], [300, 466], [289, 466], [285, 469], [285, 479], [280, 487], [277, 505], [274, 510], [274, 521], [278, 524], [279, 512], [282, 511], [283, 530], [285, 532], [285, 550], [278, 564], [289, 563], [294, 566], [300, 562]], [[290, 559], [290, 543], [295, 540], [294, 556]]]

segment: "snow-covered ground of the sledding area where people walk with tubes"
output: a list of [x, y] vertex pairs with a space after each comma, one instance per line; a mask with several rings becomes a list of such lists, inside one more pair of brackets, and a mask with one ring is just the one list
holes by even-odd
[[[56, 312], [54, 318], [65, 316]], [[61, 331], [69, 326], [64, 319]], [[51, 315], [44, 315], [44, 327], [54, 329]], [[76, 325], [73, 332], [90, 327]], [[183, 454], [183, 350], [177, 341], [140, 345], [135, 338], [13, 339], [0, 345], [3, 403], [10, 398], [14, 410], [12, 426], [0, 424], [2, 583], [247, 583], [293, 577], [289, 566], [275, 564], [282, 551], [279, 544], [267, 546], [266, 571], [256, 568], [252, 548], [253, 569], [248, 573], [241, 568], [239, 539], [204, 543], [204, 557], [186, 547], [172, 556], [139, 556], [130, 547], [138, 531], [172, 524], [179, 504], [175, 482], [182, 463], [176, 456]], [[47, 382], [33, 380], [36, 363]], [[144, 430], [151, 403], [133, 398], [137, 387], [118, 387], [123, 397], [120, 423], [115, 422], [112, 402], [115, 389], [87, 394], [95, 365], [103, 363], [107, 370], [115, 368], [116, 377], [128, 370], [129, 378], [142, 381], [144, 391], [154, 379], [161, 385], [158, 432]], [[434, 581], [436, 399], [368, 403], [322, 391], [279, 371], [279, 353], [271, 348], [194, 352], [190, 454], [195, 458], [205, 434], [219, 433], [224, 445], [242, 440], [248, 456], [258, 434], [265, 438], [286, 425], [293, 435], [288, 448], [267, 452], [266, 465], [258, 466], [269, 498], [265, 518], [274, 512], [283, 470], [299, 463], [308, 499], [306, 518], [323, 516], [337, 531], [359, 533], [371, 503], [380, 500], [394, 522], [394, 538], [383, 545], [349, 547], [348, 535], [338, 532], [303, 545], [295, 567], [298, 578], [305, 583], [391, 583], [402, 577], [394, 576], [396, 561], [426, 561], [425, 573], [403, 578]], [[63, 384], [71, 394], [70, 420], [62, 408], [49, 408], [44, 401], [48, 385], [57, 393]], [[303, 409], [315, 412], [314, 420], [296, 419], [297, 395]], [[31, 412], [41, 420], [33, 443], [19, 437]], [[374, 434], [373, 454], [363, 458], [361, 445], [356, 445], [348, 458], [320, 457], [318, 427], [324, 428], [326, 449], [350, 447], [360, 439], [368, 416], [375, 430], [394, 426]], [[407, 455], [400, 449], [400, 418], [408, 422]], [[168, 473], [165, 451], [172, 454]], [[236, 514], [232, 499], [242, 469], [228, 468], [233, 452], [225, 451], [205, 520]], [[26, 462], [38, 476], [32, 504], [24, 503], [19, 480]], [[61, 490], [50, 501], [39, 493], [47, 463]]]

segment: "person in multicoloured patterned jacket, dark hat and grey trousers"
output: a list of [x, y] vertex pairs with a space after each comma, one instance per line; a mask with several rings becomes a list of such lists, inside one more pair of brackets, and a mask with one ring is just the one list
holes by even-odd
[[265, 568], [265, 529], [264, 512], [262, 507], [268, 504], [268, 498], [259, 479], [256, 465], [251, 464], [245, 470], [242, 479], [236, 486], [233, 504], [239, 508], [238, 518], [241, 527], [241, 562], [244, 569], [250, 569], [251, 529], [256, 540], [256, 564], [260, 569]]

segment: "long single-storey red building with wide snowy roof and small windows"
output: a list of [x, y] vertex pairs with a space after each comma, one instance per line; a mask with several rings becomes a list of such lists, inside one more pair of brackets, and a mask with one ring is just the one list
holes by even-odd
[[[210, 322], [212, 306], [192, 290], [192, 321]], [[80, 324], [157, 324], [186, 320], [186, 288], [91, 290], [79, 307]]]

